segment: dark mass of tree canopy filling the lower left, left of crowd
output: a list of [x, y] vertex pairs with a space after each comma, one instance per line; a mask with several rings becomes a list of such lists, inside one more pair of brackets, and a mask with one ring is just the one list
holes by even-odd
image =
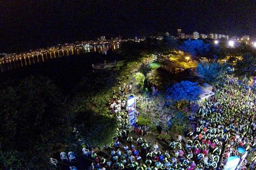
[[[100, 80], [101, 86], [112, 82]], [[109, 143], [116, 119], [108, 116], [109, 96], [105, 91], [97, 95], [99, 88], [93, 84], [79, 83], [71, 99], [44, 77], [26, 78], [0, 90], [0, 167], [50, 169], [50, 157], [61, 151], [80, 151], [83, 143]]]

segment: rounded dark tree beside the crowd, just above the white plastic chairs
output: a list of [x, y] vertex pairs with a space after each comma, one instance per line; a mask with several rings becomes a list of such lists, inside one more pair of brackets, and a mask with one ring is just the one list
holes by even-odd
[[74, 115], [72, 128], [75, 128], [76, 139], [80, 144], [86, 143], [91, 147], [111, 143], [116, 135], [116, 118], [98, 114], [86, 105], [78, 105], [71, 109], [71, 114]]

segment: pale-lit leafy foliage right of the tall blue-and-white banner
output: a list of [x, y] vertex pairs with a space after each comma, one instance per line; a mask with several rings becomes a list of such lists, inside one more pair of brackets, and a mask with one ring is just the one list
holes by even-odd
[[160, 92], [149, 98], [145, 95], [137, 95], [137, 104], [140, 108], [138, 117], [140, 125], [150, 126], [151, 130], [159, 128], [163, 132], [171, 131], [179, 134], [187, 128], [184, 113], [176, 111], [172, 106], [173, 103], [166, 100]]

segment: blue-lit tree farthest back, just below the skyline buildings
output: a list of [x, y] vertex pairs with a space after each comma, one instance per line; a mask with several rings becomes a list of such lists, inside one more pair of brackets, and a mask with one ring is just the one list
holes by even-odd
[[193, 60], [198, 60], [210, 50], [210, 44], [199, 39], [188, 39], [180, 45], [180, 50], [191, 55]]

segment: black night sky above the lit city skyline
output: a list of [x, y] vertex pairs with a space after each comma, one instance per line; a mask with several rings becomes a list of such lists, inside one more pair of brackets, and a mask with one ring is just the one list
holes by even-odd
[[0, 53], [169, 32], [255, 35], [256, 1], [0, 0]]

